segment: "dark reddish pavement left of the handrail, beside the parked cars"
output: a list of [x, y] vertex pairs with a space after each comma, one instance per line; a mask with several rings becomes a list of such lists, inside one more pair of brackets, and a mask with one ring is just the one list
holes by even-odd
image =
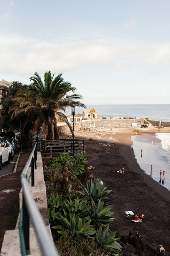
[[15, 229], [19, 214], [20, 175], [31, 151], [20, 154], [16, 173], [0, 177], [0, 250], [6, 230]]

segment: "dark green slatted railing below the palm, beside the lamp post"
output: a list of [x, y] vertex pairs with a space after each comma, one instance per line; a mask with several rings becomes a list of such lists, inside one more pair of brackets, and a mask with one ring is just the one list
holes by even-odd
[[84, 154], [84, 140], [83, 139], [62, 139], [56, 141], [42, 141], [40, 143], [40, 151], [42, 157], [56, 157], [62, 152], [83, 153]]

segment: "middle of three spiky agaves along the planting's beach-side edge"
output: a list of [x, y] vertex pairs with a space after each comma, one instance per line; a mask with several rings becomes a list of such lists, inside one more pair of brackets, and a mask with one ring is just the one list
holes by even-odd
[[111, 205], [104, 206], [104, 202], [101, 201], [101, 198], [98, 200], [98, 204], [94, 203], [92, 199], [92, 205], [90, 208], [90, 219], [92, 224], [95, 226], [104, 225], [106, 226], [109, 222], [113, 221], [112, 215], [114, 212], [110, 211]]

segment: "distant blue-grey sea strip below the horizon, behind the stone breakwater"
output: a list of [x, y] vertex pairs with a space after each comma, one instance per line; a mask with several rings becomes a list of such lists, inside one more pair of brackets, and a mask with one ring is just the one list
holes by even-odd
[[[99, 117], [138, 117], [170, 122], [170, 104], [143, 105], [86, 105], [86, 109], [95, 108]], [[75, 107], [75, 114], [82, 114], [84, 108]], [[71, 115], [71, 107], [65, 115]]]

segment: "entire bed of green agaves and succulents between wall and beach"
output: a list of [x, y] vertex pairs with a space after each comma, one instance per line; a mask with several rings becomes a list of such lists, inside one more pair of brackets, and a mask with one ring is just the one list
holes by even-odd
[[[80, 182], [86, 164], [87, 160], [83, 154], [75, 154], [73, 157], [64, 152], [51, 166], [53, 171], [58, 166], [63, 171], [65, 166], [68, 171], [74, 173], [74, 179], [69, 180], [69, 184], [73, 186], [74, 182]], [[47, 199], [49, 223], [60, 255], [64, 256], [69, 252], [69, 255], [81, 256], [91, 253], [98, 256], [119, 256], [121, 246], [115, 242], [118, 239], [115, 238], [116, 232], [111, 233], [109, 230], [109, 223], [114, 220], [114, 212], [110, 211], [111, 205], [105, 204], [110, 200], [112, 190], [106, 190], [105, 184], [101, 185], [98, 179], [96, 182], [86, 182], [86, 186], [79, 186], [79, 189], [73, 189], [79, 190], [76, 194], [57, 194]]]

